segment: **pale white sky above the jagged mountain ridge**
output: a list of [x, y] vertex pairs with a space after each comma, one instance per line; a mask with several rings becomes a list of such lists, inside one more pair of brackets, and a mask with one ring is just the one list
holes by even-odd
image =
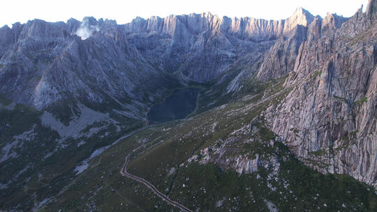
[[116, 20], [118, 24], [131, 22], [134, 17], [152, 15], [165, 17], [170, 14], [210, 12], [228, 17], [256, 17], [281, 20], [290, 17], [296, 8], [302, 7], [313, 15], [325, 17], [327, 12], [350, 17], [368, 0], [1, 0], [0, 27], [15, 22], [27, 22], [36, 18], [48, 22], [82, 20], [93, 16]]

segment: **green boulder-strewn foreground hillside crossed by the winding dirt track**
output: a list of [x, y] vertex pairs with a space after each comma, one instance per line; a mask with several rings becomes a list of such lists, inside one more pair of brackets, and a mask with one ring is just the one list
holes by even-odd
[[297, 160], [260, 115], [281, 82], [190, 119], [149, 126], [105, 151], [42, 211], [179, 211], [127, 170], [191, 211], [375, 211], [374, 188]]

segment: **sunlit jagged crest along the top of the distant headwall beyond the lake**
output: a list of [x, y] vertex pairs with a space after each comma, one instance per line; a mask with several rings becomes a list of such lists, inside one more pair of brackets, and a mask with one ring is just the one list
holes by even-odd
[[[232, 33], [239, 38], [253, 40], [269, 40], [289, 33], [297, 25], [307, 27], [313, 22], [313, 15], [303, 8], [297, 8], [295, 13], [286, 20], [263, 20], [253, 17], [219, 17], [212, 13], [190, 15], [169, 15], [168, 17], [150, 17], [145, 20], [136, 17], [131, 23], [125, 24], [126, 31], [132, 33], [158, 32], [174, 35], [175, 31], [188, 29], [188, 33], [200, 34], [205, 31]], [[183, 30], [185, 30], [183, 29]]]

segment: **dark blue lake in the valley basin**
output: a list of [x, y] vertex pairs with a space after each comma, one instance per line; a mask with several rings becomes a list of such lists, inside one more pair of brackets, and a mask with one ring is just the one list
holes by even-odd
[[200, 89], [177, 89], [163, 103], [153, 105], [147, 114], [149, 123], [184, 119], [196, 108]]

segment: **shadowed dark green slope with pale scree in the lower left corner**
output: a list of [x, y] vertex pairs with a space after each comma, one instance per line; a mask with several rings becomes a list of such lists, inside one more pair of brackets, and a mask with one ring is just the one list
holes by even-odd
[[[120, 131], [110, 124], [90, 137], [63, 139], [41, 123], [42, 114], [20, 104], [14, 108], [0, 107], [0, 158], [3, 158], [0, 162], [0, 210], [37, 209], [75, 179], [73, 170], [79, 162], [89, 158], [96, 149], [142, 126], [141, 121], [124, 119], [123, 123], [128, 121], [128, 124]], [[104, 124], [96, 122], [84, 131]], [[82, 144], [78, 145], [80, 142]]]

